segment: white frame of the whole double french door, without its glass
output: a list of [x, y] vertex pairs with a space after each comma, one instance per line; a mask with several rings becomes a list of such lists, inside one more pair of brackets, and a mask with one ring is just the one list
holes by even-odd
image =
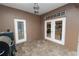
[[[62, 39], [61, 39], [61, 41], [55, 39], [55, 22], [56, 21], [60, 21], [60, 20], [62, 20]], [[46, 30], [47, 30], [47, 22], [51, 22], [51, 38], [49, 38], [49, 37], [46, 36], [47, 35], [47, 33], [46, 33]], [[50, 41], [53, 41], [53, 42], [56, 42], [56, 43], [59, 43], [61, 45], [64, 45], [65, 44], [66, 17], [52, 19], [52, 20], [46, 20], [45, 21], [45, 24], [44, 24], [44, 27], [45, 27], [44, 28], [45, 39], [50, 40]]]

